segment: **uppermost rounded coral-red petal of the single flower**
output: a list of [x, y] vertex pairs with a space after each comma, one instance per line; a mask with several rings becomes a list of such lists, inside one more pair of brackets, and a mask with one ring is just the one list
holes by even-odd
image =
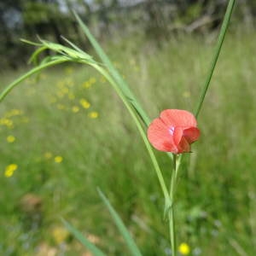
[[160, 119], [168, 127], [195, 127], [197, 125], [193, 113], [180, 109], [166, 109], [160, 113]]

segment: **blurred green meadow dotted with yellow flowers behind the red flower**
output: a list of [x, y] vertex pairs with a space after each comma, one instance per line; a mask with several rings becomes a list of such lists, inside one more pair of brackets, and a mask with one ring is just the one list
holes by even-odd
[[[166, 108], [193, 111], [215, 40], [177, 35], [156, 47], [123, 38], [103, 47], [154, 119]], [[189, 255], [256, 253], [255, 45], [255, 33], [227, 35], [198, 119], [201, 139], [184, 157], [177, 241], [189, 245]], [[2, 72], [1, 90], [24, 72]], [[0, 137], [1, 255], [91, 255], [61, 217], [108, 255], [129, 255], [97, 187], [143, 255], [170, 255], [148, 153], [123, 103], [93, 69], [63, 65], [20, 84], [1, 103]], [[170, 159], [155, 154], [170, 177]]]

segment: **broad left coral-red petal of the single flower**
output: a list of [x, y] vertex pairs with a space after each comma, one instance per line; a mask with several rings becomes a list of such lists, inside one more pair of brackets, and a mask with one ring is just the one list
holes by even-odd
[[177, 153], [172, 135], [161, 119], [154, 119], [148, 127], [148, 141], [160, 151]]

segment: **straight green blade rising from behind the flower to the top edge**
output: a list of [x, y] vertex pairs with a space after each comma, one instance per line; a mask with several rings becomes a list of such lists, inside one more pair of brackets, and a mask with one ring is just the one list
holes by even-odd
[[214, 55], [213, 55], [213, 58], [212, 58], [211, 68], [210, 68], [209, 73], [207, 75], [206, 83], [205, 83], [204, 87], [201, 90], [201, 96], [199, 98], [198, 105], [195, 108], [195, 117], [197, 117], [199, 115], [202, 103], [204, 102], [204, 99], [206, 97], [207, 90], [208, 90], [209, 84], [210, 84], [211, 79], [212, 79], [212, 74], [213, 74], [214, 68], [216, 66], [216, 63], [218, 61], [218, 55], [220, 53], [220, 49], [221, 49], [222, 44], [224, 42], [225, 34], [227, 32], [227, 28], [230, 24], [230, 18], [231, 18], [232, 11], [234, 9], [235, 3], [236, 3], [236, 0], [230, 0], [230, 2], [228, 4], [228, 7], [226, 9], [226, 13], [224, 15], [224, 21], [222, 23], [222, 26], [221, 26], [221, 29], [220, 29], [220, 32], [219, 32], [219, 35], [218, 35], [218, 43], [217, 43], [217, 46], [216, 46], [216, 49], [214, 51]]

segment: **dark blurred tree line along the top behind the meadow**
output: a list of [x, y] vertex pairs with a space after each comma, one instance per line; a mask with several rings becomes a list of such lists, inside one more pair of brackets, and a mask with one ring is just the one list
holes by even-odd
[[[36, 35], [61, 43], [61, 34], [86, 44], [73, 18], [75, 10], [97, 38], [113, 32], [139, 31], [160, 41], [172, 32], [208, 32], [218, 27], [226, 0], [2, 0], [0, 57], [2, 67], [18, 67], [30, 48], [20, 38]], [[240, 0], [236, 18], [253, 27], [256, 1]]]

